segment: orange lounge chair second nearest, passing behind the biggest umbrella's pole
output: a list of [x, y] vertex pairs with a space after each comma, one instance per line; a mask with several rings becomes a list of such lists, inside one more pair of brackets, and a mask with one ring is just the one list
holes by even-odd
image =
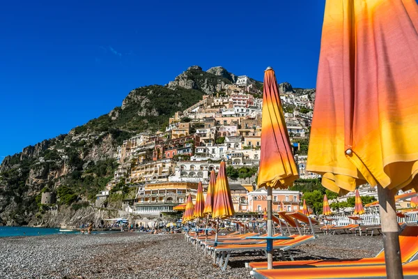
[[[418, 227], [405, 227], [399, 236], [401, 246], [401, 261], [403, 263], [414, 261], [418, 258]], [[376, 257], [362, 259], [328, 259], [306, 260], [294, 262], [273, 262], [273, 269], [309, 269], [332, 266], [362, 266], [385, 264], [385, 252], [382, 250]], [[267, 262], [251, 262], [251, 269], [267, 269]]]

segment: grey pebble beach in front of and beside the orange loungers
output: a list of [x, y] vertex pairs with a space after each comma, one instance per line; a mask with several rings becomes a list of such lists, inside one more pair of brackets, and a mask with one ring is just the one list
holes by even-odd
[[[297, 259], [374, 257], [381, 236], [323, 235], [299, 246]], [[0, 239], [0, 278], [251, 278], [245, 262], [258, 255], [233, 255], [226, 271], [185, 242], [183, 234], [117, 232]]]

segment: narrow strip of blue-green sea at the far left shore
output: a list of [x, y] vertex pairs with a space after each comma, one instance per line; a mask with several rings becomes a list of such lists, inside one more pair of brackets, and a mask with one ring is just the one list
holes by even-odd
[[[93, 234], [108, 232], [93, 232]], [[4, 236], [40, 236], [47, 234], [80, 234], [78, 231], [60, 232], [57, 228], [42, 227], [0, 227], [0, 237]]]

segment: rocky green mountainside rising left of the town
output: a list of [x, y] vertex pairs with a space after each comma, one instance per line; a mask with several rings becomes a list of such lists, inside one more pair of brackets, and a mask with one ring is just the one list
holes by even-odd
[[[123, 140], [135, 133], [162, 129], [174, 112], [236, 80], [236, 75], [222, 67], [203, 71], [192, 66], [166, 86], [130, 91], [120, 107], [68, 134], [7, 156], [0, 165], [0, 225], [61, 225], [51, 217], [56, 214], [72, 220], [76, 211], [91, 207], [95, 194], [113, 177], [117, 167], [114, 153]], [[256, 86], [261, 88], [262, 83], [256, 82]], [[41, 206], [42, 191], [57, 193], [57, 204]], [[84, 219], [80, 216], [79, 220]]]

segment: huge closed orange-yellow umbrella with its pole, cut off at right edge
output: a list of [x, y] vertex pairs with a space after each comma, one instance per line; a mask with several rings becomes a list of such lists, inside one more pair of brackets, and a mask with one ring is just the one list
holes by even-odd
[[415, 0], [325, 5], [306, 169], [336, 193], [378, 187], [388, 278], [402, 276], [394, 192], [418, 186], [417, 29]]

